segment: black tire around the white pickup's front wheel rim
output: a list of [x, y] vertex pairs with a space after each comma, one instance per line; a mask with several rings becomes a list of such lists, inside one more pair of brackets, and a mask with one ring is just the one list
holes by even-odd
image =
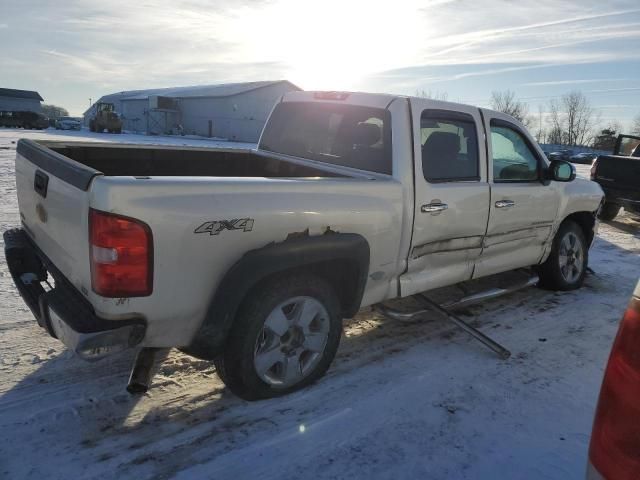
[[[567, 269], [571, 267], [572, 273], [575, 273], [575, 270], [573, 270], [572, 266], [565, 266], [563, 269], [561, 258], [567, 257], [567, 255], [561, 255], [564, 251], [561, 244], [568, 236], [571, 235], [573, 235], [573, 238], [575, 238], [577, 242], [580, 242], [581, 248], [580, 258], [574, 259], [574, 265], [579, 270], [579, 274], [575, 275], [576, 278], [571, 278], [571, 275], [568, 275], [569, 278], [567, 278]], [[573, 255], [568, 256], [571, 257]], [[589, 249], [584, 233], [577, 223], [571, 220], [566, 220], [562, 225], [560, 225], [560, 228], [553, 239], [553, 245], [551, 246], [551, 253], [549, 254], [549, 257], [538, 267], [538, 275], [540, 276], [539, 285], [542, 288], [549, 290], [575, 290], [580, 288], [584, 283], [588, 264]]]

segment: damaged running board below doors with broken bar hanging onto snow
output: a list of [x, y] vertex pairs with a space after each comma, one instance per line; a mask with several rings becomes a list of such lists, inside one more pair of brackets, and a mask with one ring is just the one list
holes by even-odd
[[374, 305], [374, 309], [380, 312], [385, 317], [389, 317], [393, 320], [399, 320], [402, 322], [413, 321], [417, 318], [420, 318], [426, 315], [427, 313], [432, 313], [435, 310], [436, 312], [442, 314], [448, 320], [453, 322], [455, 325], [463, 329], [469, 335], [474, 337], [476, 340], [480, 341], [481, 343], [486, 345], [488, 348], [493, 350], [495, 353], [498, 354], [498, 356], [500, 356], [500, 358], [507, 359], [511, 356], [511, 352], [509, 350], [507, 350], [506, 348], [504, 348], [502, 345], [498, 344], [491, 338], [487, 337], [480, 330], [472, 327], [471, 325], [466, 323], [464, 320], [462, 320], [458, 316], [451, 313], [449, 310], [468, 307], [469, 305], [473, 305], [473, 304], [482, 302], [484, 300], [501, 297], [503, 295], [507, 295], [509, 293], [516, 292], [518, 290], [522, 290], [523, 288], [531, 287], [537, 284], [538, 281], [539, 281], [539, 278], [537, 275], [535, 275], [527, 279], [525, 282], [515, 284], [508, 288], [491, 288], [489, 290], [485, 290], [484, 292], [474, 293], [472, 295], [463, 297], [460, 300], [447, 302], [442, 305], [438, 305], [423, 293], [419, 293], [417, 295], [414, 295], [413, 298], [417, 299], [420, 303], [422, 303], [425, 306], [428, 306], [429, 308], [414, 310], [413, 312], [402, 312], [400, 310], [396, 310], [394, 308], [388, 307], [383, 304]]

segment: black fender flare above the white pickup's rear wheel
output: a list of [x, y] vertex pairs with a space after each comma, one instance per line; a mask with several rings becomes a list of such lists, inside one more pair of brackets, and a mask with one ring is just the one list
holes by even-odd
[[245, 253], [224, 275], [191, 345], [182, 350], [203, 359], [219, 355], [238, 309], [252, 290], [284, 273], [304, 272], [327, 280], [343, 318], [359, 308], [369, 274], [369, 243], [354, 233], [297, 235]]

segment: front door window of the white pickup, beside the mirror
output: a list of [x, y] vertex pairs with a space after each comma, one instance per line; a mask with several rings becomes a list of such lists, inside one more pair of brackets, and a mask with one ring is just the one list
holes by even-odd
[[538, 157], [520, 132], [491, 125], [494, 182], [535, 182], [539, 176]]

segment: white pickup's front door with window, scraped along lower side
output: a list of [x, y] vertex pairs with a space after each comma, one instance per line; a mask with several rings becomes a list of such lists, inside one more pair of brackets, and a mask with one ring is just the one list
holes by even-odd
[[491, 206], [474, 278], [537, 264], [551, 241], [560, 195], [543, 180], [542, 150], [511, 117], [483, 110]]

